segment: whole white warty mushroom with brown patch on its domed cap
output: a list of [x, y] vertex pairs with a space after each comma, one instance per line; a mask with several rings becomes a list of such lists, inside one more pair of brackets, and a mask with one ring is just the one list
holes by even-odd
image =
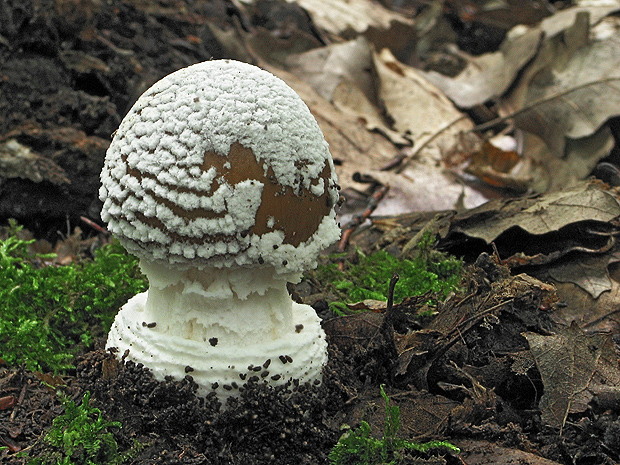
[[222, 401], [250, 379], [321, 381], [320, 320], [286, 286], [340, 236], [338, 185], [290, 87], [232, 60], [164, 77], [121, 122], [101, 182], [101, 217], [149, 281], [107, 348]]

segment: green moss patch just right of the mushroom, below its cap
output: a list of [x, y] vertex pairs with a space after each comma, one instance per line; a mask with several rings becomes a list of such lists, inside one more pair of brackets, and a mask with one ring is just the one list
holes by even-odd
[[424, 239], [411, 260], [401, 260], [385, 251], [372, 255], [358, 251], [358, 262], [346, 264], [344, 271], [333, 263], [319, 267], [316, 276], [327, 290], [339, 296], [341, 300], [331, 303], [331, 307], [342, 313], [346, 303], [387, 300], [388, 284], [394, 273], [400, 277], [394, 288], [394, 303], [427, 292], [446, 297], [458, 288], [462, 268], [461, 260], [432, 250], [431, 242]]

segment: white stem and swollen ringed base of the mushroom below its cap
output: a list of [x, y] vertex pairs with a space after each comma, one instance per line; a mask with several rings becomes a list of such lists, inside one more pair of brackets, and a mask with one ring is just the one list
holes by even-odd
[[150, 288], [123, 306], [107, 348], [129, 350], [128, 359], [159, 380], [190, 375], [199, 395], [215, 392], [223, 404], [248, 381], [320, 383], [325, 333], [314, 309], [288, 295], [296, 276], [269, 267], [140, 265]]

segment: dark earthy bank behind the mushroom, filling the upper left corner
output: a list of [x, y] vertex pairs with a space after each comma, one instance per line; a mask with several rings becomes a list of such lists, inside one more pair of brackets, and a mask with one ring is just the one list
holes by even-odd
[[[244, 12], [248, 26], [299, 16], [267, 18], [263, 3]], [[0, 218], [52, 242], [81, 216], [99, 221], [112, 132], [163, 76], [225, 58], [210, 28], [241, 14], [226, 0], [0, 0]]]

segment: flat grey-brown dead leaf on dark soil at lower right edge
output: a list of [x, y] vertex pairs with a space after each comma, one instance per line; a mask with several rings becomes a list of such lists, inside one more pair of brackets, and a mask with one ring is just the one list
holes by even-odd
[[545, 394], [543, 421], [562, 428], [570, 413], [583, 412], [598, 386], [620, 386], [620, 368], [611, 335], [587, 334], [576, 323], [552, 336], [527, 332]]

